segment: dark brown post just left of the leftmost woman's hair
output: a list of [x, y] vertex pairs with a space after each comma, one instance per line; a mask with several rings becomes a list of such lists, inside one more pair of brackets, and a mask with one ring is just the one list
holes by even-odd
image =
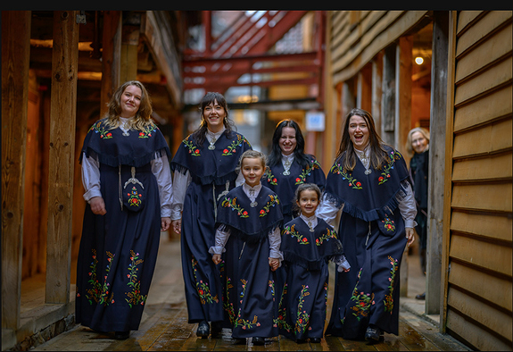
[[114, 90], [120, 86], [121, 12], [103, 13], [102, 93], [100, 116], [107, 112]]

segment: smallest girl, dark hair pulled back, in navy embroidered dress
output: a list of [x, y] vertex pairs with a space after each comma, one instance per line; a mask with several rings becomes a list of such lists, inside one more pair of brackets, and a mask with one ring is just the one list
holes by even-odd
[[300, 215], [285, 223], [282, 230], [280, 250], [287, 264], [287, 275], [276, 323], [282, 335], [298, 343], [306, 339], [319, 343], [323, 338], [328, 261], [335, 262], [339, 272], [350, 270], [335, 229], [315, 214], [320, 197], [317, 185], [299, 185], [294, 202]]

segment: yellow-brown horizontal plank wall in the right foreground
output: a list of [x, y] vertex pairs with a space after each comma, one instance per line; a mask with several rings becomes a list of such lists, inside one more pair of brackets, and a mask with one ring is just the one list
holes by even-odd
[[444, 324], [479, 350], [512, 349], [511, 13], [451, 16]]

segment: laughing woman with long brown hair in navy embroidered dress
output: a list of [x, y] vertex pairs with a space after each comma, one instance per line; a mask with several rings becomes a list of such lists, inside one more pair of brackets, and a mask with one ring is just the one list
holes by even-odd
[[331, 224], [340, 209], [339, 236], [353, 270], [336, 274], [326, 334], [368, 343], [384, 331], [397, 335], [399, 268], [414, 240], [417, 209], [402, 155], [361, 109], [346, 117], [318, 216]]

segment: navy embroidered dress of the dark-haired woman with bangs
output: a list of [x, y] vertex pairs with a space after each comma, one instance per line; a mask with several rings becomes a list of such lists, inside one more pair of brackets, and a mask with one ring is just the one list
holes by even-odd
[[189, 135], [171, 162], [172, 171], [188, 171], [192, 177], [184, 199], [180, 238], [188, 323], [223, 320], [220, 273], [208, 251], [214, 245], [219, 197], [235, 187], [239, 158], [252, 149], [235, 131], [229, 138], [223, 132], [213, 150], [208, 146], [207, 141], [198, 146]]

